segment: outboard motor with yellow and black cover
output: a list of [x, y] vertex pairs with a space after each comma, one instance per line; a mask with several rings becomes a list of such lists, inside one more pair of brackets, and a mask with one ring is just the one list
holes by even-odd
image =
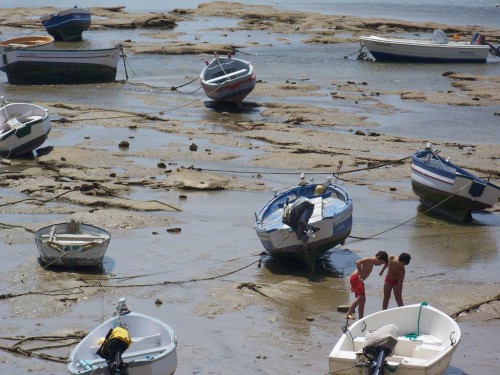
[[109, 330], [97, 354], [106, 360], [110, 375], [128, 375], [128, 364], [123, 362], [122, 354], [131, 343], [126, 329], [116, 327]]

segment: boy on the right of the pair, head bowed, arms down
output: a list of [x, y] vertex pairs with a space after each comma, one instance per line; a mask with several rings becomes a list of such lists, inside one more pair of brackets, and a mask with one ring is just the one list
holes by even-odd
[[[384, 280], [384, 301], [382, 302], [382, 309], [386, 310], [389, 306], [389, 299], [394, 290], [394, 299], [398, 306], [403, 306], [403, 281], [405, 279], [405, 266], [410, 264], [411, 256], [408, 253], [401, 253], [398, 258], [394, 255], [389, 257], [387, 265], [387, 275]], [[381, 271], [385, 270], [384, 267]]]

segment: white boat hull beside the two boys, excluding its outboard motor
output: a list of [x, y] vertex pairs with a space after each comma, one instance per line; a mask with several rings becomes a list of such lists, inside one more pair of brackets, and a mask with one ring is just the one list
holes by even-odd
[[[357, 352], [362, 351], [369, 333], [388, 324], [399, 328], [394, 353], [386, 358], [395, 368], [391, 374], [441, 375], [446, 371], [460, 343], [460, 327], [445, 313], [416, 304], [380, 311], [350, 326], [329, 355], [330, 373], [368, 375], [368, 368], [359, 365], [366, 358]], [[419, 335], [414, 340], [405, 337], [411, 333]]]

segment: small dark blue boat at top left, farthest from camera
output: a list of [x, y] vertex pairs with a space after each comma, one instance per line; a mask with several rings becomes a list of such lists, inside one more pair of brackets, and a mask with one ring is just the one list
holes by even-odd
[[72, 42], [82, 40], [82, 33], [90, 27], [89, 9], [69, 8], [40, 18], [45, 30], [55, 40]]

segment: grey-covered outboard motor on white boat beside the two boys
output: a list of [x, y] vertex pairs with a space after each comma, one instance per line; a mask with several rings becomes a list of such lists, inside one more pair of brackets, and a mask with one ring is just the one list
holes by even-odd
[[363, 355], [370, 360], [369, 375], [384, 375], [385, 358], [394, 351], [398, 343], [399, 328], [388, 324], [376, 330], [366, 340]]

